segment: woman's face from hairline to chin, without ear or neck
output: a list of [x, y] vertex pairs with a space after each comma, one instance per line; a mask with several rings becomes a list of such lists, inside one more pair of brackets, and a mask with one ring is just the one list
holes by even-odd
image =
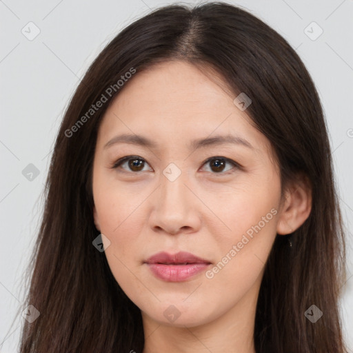
[[[281, 183], [270, 141], [234, 98], [174, 61], [137, 72], [103, 117], [94, 221], [143, 318], [192, 327], [254, 308]], [[160, 252], [170, 257], [151, 259]]]

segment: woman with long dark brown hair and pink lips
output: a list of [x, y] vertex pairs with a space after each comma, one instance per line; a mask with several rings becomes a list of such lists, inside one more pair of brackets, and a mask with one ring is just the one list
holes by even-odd
[[61, 124], [27, 352], [347, 352], [345, 246], [314, 83], [235, 6], [167, 6]]

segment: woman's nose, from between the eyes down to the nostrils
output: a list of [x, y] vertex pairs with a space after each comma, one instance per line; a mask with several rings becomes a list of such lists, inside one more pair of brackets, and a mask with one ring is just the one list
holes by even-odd
[[161, 174], [161, 185], [149, 200], [150, 227], [168, 234], [193, 233], [201, 227], [201, 201], [197, 199], [183, 173], [174, 181]]

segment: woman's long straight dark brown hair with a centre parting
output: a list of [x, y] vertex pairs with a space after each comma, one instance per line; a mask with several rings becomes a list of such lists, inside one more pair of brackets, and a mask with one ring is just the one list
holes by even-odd
[[[153, 10], [123, 29], [79, 83], [55, 142], [29, 268], [23, 307], [33, 305], [40, 315], [23, 321], [20, 352], [142, 352], [141, 312], [115, 281], [104, 252], [92, 245], [99, 235], [92, 216], [92, 161], [101, 118], [134, 79], [133, 70], [170, 60], [212, 68], [234, 98], [241, 92], [252, 97], [246, 112], [272, 143], [281, 185], [298, 173], [312, 185], [312, 211], [292, 234], [292, 247], [277, 236], [265, 265], [256, 352], [346, 352], [339, 317], [344, 232], [316, 88], [283, 37], [221, 2]], [[96, 110], [97, 101], [104, 102]], [[316, 323], [305, 316], [311, 305], [323, 312]]]

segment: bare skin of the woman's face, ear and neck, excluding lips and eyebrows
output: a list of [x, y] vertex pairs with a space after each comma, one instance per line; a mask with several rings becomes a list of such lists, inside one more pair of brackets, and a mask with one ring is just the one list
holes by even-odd
[[[181, 61], [159, 63], [125, 83], [101, 122], [93, 166], [94, 223], [105, 235], [105, 256], [115, 279], [141, 309], [145, 348], [152, 352], [254, 352], [254, 316], [265, 261], [276, 234], [299, 228], [310, 214], [310, 190], [299, 179], [281, 199], [279, 167], [270, 141], [251, 124], [215, 79]], [[252, 97], [254, 99], [254, 97]], [[155, 148], [105, 143], [118, 134], [141, 134]], [[248, 141], [190, 150], [194, 139], [232, 134]], [[133, 171], [121, 157], [145, 161]], [[226, 157], [214, 171], [210, 157]], [[134, 159], [132, 157], [132, 159]], [[170, 181], [163, 170], [181, 174]], [[243, 234], [275, 210], [248, 243], [229, 256]], [[262, 224], [262, 223], [261, 223]], [[157, 279], [148, 265], [160, 251], [186, 251], [228, 263], [212, 279]], [[180, 316], [163, 312], [174, 305]], [[171, 309], [170, 309], [171, 310]], [[132, 350], [134, 347], [132, 347]]]

